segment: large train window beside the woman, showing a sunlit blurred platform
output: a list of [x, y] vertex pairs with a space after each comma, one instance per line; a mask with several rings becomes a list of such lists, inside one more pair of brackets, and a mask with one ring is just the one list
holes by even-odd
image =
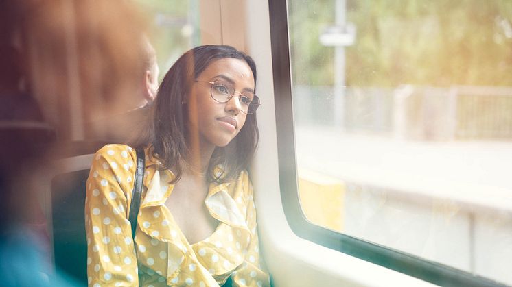
[[512, 284], [512, 2], [285, 2], [269, 5], [294, 232], [435, 284]]

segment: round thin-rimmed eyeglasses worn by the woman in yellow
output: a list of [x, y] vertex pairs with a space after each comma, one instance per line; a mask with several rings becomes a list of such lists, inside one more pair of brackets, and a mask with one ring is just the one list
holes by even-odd
[[[222, 79], [195, 82], [210, 84], [211, 98], [218, 103], [227, 103], [235, 95], [235, 88], [233, 88], [233, 85]], [[260, 105], [259, 97], [254, 95], [253, 92], [247, 90], [238, 92], [238, 101], [240, 101], [240, 105], [242, 105], [241, 111], [244, 114], [254, 114]]]

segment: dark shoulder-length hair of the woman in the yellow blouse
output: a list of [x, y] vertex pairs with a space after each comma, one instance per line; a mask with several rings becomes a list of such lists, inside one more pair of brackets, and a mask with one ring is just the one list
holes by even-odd
[[[189, 145], [187, 145], [187, 105], [194, 81], [202, 71], [214, 61], [235, 58], [246, 62], [253, 72], [256, 86], [256, 64], [249, 56], [234, 47], [225, 45], [204, 45], [195, 47], [181, 55], [163, 77], [156, 99], [152, 104], [150, 120], [146, 128], [132, 147], [152, 146], [150, 156], [157, 158], [165, 167], [172, 169], [176, 176], [172, 182], [180, 179], [183, 166], [189, 164]], [[208, 165], [209, 182], [235, 179], [253, 158], [258, 145], [259, 131], [256, 114], [248, 114], [240, 132], [225, 147], [216, 147]], [[216, 166], [222, 166], [222, 173], [214, 172]]]

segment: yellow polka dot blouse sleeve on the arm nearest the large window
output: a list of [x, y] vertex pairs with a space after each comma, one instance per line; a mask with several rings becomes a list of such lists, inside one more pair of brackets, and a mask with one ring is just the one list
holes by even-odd
[[244, 176], [244, 193], [246, 199], [246, 223], [251, 232], [251, 241], [244, 250], [244, 263], [242, 268], [233, 273], [231, 279], [233, 286], [270, 286], [270, 278], [266, 271], [263, 258], [259, 255], [259, 239], [256, 224], [256, 208], [254, 204], [253, 186]]

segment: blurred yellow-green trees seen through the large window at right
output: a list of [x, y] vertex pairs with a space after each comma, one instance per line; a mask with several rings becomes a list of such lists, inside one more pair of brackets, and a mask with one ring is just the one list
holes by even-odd
[[[290, 1], [294, 84], [331, 85], [334, 0]], [[512, 86], [509, 0], [347, 0], [356, 42], [345, 48], [347, 86]]]

